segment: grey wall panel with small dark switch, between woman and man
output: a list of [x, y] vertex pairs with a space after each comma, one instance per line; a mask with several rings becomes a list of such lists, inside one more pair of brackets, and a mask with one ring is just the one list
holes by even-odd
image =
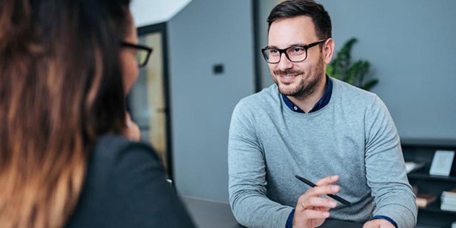
[[[168, 31], [177, 190], [227, 202], [231, 113], [254, 90], [251, 3], [194, 0], [169, 21]], [[214, 74], [219, 63], [224, 73]]]

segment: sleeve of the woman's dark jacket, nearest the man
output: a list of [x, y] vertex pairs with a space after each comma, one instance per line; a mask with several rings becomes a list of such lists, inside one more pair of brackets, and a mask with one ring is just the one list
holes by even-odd
[[149, 146], [128, 144], [112, 170], [106, 227], [195, 227]]

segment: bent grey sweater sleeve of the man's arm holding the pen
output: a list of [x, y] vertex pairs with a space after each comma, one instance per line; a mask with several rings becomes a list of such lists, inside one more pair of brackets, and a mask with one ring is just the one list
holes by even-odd
[[233, 111], [228, 145], [230, 205], [247, 227], [285, 227], [293, 208], [266, 196], [266, 165], [253, 117], [242, 100]]

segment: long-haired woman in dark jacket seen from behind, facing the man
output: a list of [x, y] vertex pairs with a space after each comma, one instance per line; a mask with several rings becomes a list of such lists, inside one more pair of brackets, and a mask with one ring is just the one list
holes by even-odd
[[0, 227], [194, 226], [154, 151], [127, 139], [128, 7], [0, 2]]

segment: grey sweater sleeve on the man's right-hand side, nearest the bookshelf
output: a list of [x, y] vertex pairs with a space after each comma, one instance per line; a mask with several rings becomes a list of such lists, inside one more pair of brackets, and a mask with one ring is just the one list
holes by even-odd
[[364, 122], [366, 178], [374, 197], [373, 216], [388, 216], [399, 228], [414, 227], [417, 206], [407, 180], [399, 135], [378, 97], [366, 110]]

